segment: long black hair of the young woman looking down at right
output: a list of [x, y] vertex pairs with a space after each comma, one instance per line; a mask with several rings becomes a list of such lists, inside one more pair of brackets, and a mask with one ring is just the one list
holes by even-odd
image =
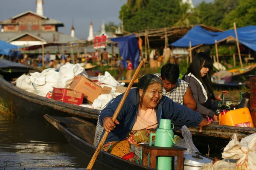
[[[209, 68], [208, 74], [205, 77], [201, 76], [201, 68], [206, 67]], [[212, 80], [211, 76], [213, 73], [212, 69], [212, 58], [204, 52], [200, 52], [196, 54], [195, 58], [193, 59], [192, 63], [189, 65], [188, 71], [183, 76], [183, 79], [189, 74], [192, 73], [197, 79], [200, 80], [200, 82], [207, 86], [209, 92], [213, 94], [212, 92]]]

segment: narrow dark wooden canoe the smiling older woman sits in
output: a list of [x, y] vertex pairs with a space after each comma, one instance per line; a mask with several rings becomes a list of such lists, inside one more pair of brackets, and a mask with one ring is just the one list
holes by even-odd
[[[68, 142], [74, 147], [87, 156], [93, 156], [96, 150], [96, 147], [93, 146], [95, 125], [76, 117], [64, 118], [45, 115], [44, 118], [60, 130]], [[113, 170], [154, 170], [153, 168], [127, 161], [104, 151], [99, 153], [95, 164], [97, 164], [97, 161], [105, 166], [111, 167]], [[100, 169], [104, 169], [104, 167], [100, 167]]]

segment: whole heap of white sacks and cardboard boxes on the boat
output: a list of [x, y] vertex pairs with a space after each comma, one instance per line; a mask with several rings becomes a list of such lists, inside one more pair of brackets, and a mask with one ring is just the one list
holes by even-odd
[[99, 77], [88, 77], [79, 64], [63, 65], [59, 72], [48, 68], [41, 73], [22, 75], [16, 84], [39, 96], [99, 110], [123, 93], [126, 89], [124, 85], [108, 72]]

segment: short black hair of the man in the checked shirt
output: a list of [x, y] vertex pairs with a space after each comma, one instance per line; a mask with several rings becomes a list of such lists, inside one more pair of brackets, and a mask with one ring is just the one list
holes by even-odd
[[166, 64], [161, 68], [162, 79], [167, 79], [169, 82], [176, 83], [180, 76], [180, 69], [177, 64]]

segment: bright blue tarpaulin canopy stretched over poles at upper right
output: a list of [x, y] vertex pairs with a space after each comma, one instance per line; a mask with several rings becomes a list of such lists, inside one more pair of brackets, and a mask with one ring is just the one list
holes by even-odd
[[[239, 42], [256, 51], [256, 26], [246, 26], [237, 28], [236, 30]], [[211, 32], [203, 29], [201, 26], [195, 26], [186, 35], [170, 45], [175, 47], [189, 47], [189, 41], [191, 41], [191, 46], [199, 44], [212, 45], [215, 44], [215, 40], [218, 42], [230, 36], [236, 38], [234, 30]]]

